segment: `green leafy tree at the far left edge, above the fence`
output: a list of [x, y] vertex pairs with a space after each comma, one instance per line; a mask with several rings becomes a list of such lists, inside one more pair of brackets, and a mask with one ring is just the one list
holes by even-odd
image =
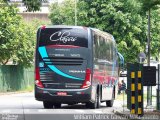
[[5, 64], [18, 49], [20, 37], [17, 27], [21, 17], [13, 6], [4, 5], [0, 8], [0, 62]]

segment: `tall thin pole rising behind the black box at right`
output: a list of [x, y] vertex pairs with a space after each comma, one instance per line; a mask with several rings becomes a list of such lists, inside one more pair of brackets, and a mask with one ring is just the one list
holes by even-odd
[[[151, 20], [150, 20], [150, 12], [151, 10], [148, 10], [148, 41], [147, 41], [147, 45], [148, 45], [148, 66], [150, 66], [150, 25], [151, 25]], [[147, 106], [152, 105], [152, 87], [151, 86], [147, 86]]]

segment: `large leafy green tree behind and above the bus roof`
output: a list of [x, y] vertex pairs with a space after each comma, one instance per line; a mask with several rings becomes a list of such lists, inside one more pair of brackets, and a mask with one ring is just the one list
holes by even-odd
[[[66, 2], [65, 4], [69, 3]], [[60, 24], [68, 25], [68, 20], [64, 18], [69, 20], [74, 18], [74, 2], [70, 4], [70, 8], [64, 8], [61, 4], [59, 5], [60, 7], [55, 8], [55, 6], [57, 5], [54, 4], [51, 7], [50, 19], [52, 23], [55, 24], [58, 21]], [[129, 2], [126, 2], [126, 0], [82, 0], [78, 2], [77, 8], [78, 25], [91, 26], [111, 33], [118, 43], [119, 51], [124, 53], [126, 60], [134, 62], [139, 51], [144, 49], [140, 40], [145, 38], [142, 30], [145, 27], [142, 26], [143, 18], [137, 14], [139, 8], [140, 4], [136, 4], [134, 0], [129, 0]], [[69, 13], [72, 13], [72, 15]], [[63, 20], [63, 22], [56, 18]], [[72, 25], [74, 25], [73, 20], [70, 22]], [[139, 36], [140, 34], [141, 36]], [[126, 45], [125, 48], [123, 47], [124, 44]]]

